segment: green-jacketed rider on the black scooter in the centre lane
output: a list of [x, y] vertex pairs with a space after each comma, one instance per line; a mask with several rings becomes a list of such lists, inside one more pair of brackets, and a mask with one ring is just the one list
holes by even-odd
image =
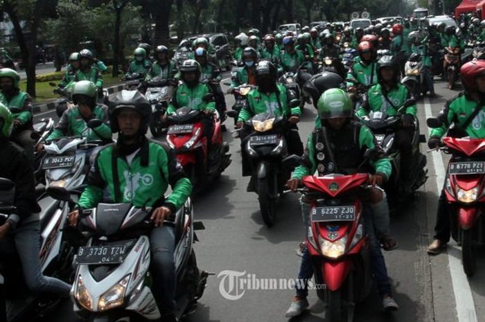
[[[245, 155], [244, 146], [247, 136], [251, 133], [252, 127], [245, 126], [245, 122], [256, 114], [272, 113], [275, 116], [283, 115], [288, 118], [290, 127], [285, 132], [285, 137], [288, 142], [288, 149], [290, 154], [303, 154], [303, 144], [298, 135], [297, 123], [300, 120], [301, 109], [299, 108], [299, 101], [294, 93], [283, 84], [276, 82], [276, 67], [272, 62], [262, 60], [256, 67], [256, 85], [257, 89], [253, 89], [247, 95], [247, 105], [241, 109], [236, 128], [243, 128], [241, 138], [241, 151], [243, 152], [243, 177], [252, 175], [251, 163], [249, 157]], [[294, 105], [294, 107], [290, 107]], [[249, 180], [247, 192], [254, 192], [255, 178]]]

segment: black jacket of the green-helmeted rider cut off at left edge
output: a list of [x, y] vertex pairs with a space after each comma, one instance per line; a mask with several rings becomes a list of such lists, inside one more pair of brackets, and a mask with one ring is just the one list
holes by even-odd
[[15, 182], [15, 206], [20, 221], [40, 211], [35, 200], [32, 166], [24, 150], [5, 138], [0, 138], [0, 177]]

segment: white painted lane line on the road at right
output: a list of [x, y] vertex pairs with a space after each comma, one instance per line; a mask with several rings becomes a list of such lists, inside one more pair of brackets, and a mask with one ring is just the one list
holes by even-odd
[[[425, 116], [433, 117], [429, 98], [424, 98]], [[434, 170], [436, 172], [436, 191], [441, 193], [445, 181], [445, 165], [440, 152], [431, 152], [433, 156]], [[457, 304], [457, 316], [459, 322], [477, 322], [477, 312], [473, 303], [473, 294], [470, 283], [461, 265], [461, 249], [456, 242], [450, 242], [448, 249], [448, 262], [450, 262], [450, 275]]]

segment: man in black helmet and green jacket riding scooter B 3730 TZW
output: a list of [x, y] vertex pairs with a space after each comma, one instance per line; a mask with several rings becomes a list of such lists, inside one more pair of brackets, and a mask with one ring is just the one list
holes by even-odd
[[[118, 132], [118, 141], [103, 147], [91, 167], [87, 186], [78, 207], [95, 207], [103, 199], [103, 190], [109, 188], [114, 203], [131, 203], [154, 209], [150, 220], [155, 228], [150, 233], [152, 250], [153, 295], [163, 321], [177, 321], [175, 317], [175, 233], [164, 220], [172, 220], [177, 210], [191, 194], [192, 184], [177, 163], [173, 150], [146, 138], [152, 108], [139, 91], [123, 90], [113, 101], [112, 132]], [[113, 168], [116, 164], [116, 168]], [[123, 173], [130, 172], [150, 177], [150, 183], [132, 184]], [[109, 174], [109, 175], [106, 175]], [[168, 184], [172, 193], [164, 197]], [[76, 226], [80, 218], [76, 209], [69, 213], [69, 223]]]

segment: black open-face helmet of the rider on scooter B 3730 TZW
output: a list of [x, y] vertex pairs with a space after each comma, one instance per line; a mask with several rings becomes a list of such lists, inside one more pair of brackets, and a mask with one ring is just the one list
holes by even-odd
[[148, 124], [150, 123], [150, 116], [152, 115], [152, 106], [150, 102], [139, 91], [118, 91], [116, 97], [110, 101], [112, 107], [112, 114], [109, 118], [111, 123], [111, 131], [113, 133], [119, 132], [118, 113], [123, 108], [134, 109], [141, 115], [140, 134], [146, 134]]

